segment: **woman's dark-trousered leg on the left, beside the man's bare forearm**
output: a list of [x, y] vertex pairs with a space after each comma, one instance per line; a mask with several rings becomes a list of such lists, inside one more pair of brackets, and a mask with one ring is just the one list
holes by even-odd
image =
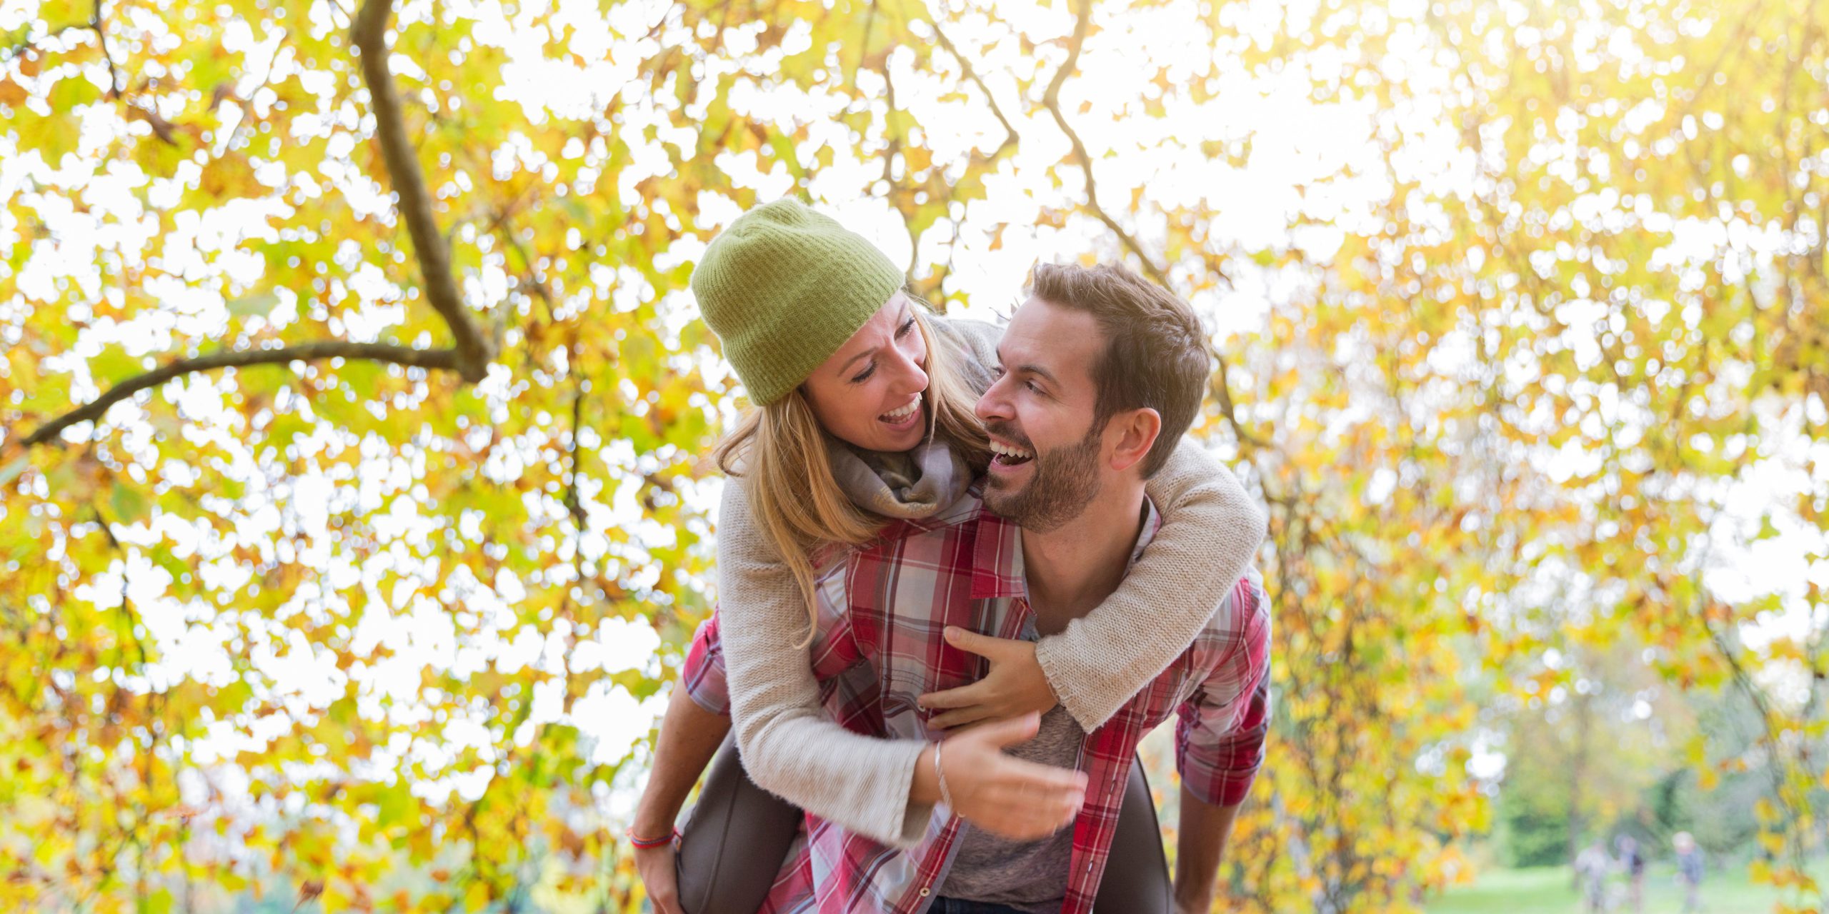
[[750, 781], [737, 760], [735, 739], [726, 739], [680, 832], [679, 883], [686, 914], [759, 909], [803, 817]]

